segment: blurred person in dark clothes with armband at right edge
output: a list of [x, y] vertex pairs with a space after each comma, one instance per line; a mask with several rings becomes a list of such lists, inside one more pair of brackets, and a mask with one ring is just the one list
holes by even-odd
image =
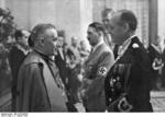
[[[165, 40], [163, 39], [163, 44], [165, 44], [164, 42]], [[163, 48], [161, 44], [162, 38], [157, 36], [157, 38], [153, 43], [151, 43], [146, 48], [152, 66], [152, 90], [155, 91], [165, 89], [165, 48]]]

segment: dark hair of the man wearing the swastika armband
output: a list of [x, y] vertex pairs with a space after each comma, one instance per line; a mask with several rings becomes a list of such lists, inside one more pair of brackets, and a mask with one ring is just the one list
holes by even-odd
[[105, 27], [101, 23], [99, 22], [94, 22], [89, 24], [90, 27], [94, 27], [97, 32], [102, 32], [105, 34]]

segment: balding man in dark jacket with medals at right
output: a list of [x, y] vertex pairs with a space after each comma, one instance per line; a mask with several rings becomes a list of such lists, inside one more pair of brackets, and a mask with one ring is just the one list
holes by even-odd
[[120, 45], [119, 57], [106, 78], [106, 103], [110, 112], [152, 112], [151, 66], [143, 44], [135, 36], [138, 21], [128, 10], [112, 16], [112, 40]]

